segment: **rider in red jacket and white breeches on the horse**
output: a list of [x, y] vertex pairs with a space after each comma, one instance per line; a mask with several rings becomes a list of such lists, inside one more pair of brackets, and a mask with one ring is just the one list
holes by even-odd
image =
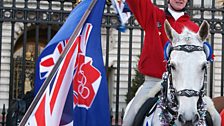
[[189, 1], [168, 0], [168, 7], [161, 10], [151, 0], [126, 0], [135, 18], [145, 31], [144, 46], [138, 63], [138, 70], [145, 75], [145, 82], [129, 102], [123, 118], [123, 126], [133, 124], [135, 115], [142, 104], [149, 97], [154, 97], [153, 93], [149, 95], [149, 91], [156, 83], [161, 82], [162, 74], [166, 71], [163, 54], [164, 45], [168, 41], [164, 30], [165, 20], [168, 20], [178, 33], [181, 33], [184, 27], [195, 33], [198, 32], [199, 26], [192, 22], [186, 13], [186, 6]]

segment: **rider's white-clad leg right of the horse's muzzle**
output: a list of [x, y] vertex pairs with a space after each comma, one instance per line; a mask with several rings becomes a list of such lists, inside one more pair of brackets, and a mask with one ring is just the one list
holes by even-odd
[[221, 126], [221, 117], [218, 113], [218, 111], [216, 110], [212, 100], [210, 97], [205, 96], [203, 98], [205, 100], [205, 103], [207, 104], [207, 110], [211, 115], [212, 121], [213, 121], [213, 126]]

